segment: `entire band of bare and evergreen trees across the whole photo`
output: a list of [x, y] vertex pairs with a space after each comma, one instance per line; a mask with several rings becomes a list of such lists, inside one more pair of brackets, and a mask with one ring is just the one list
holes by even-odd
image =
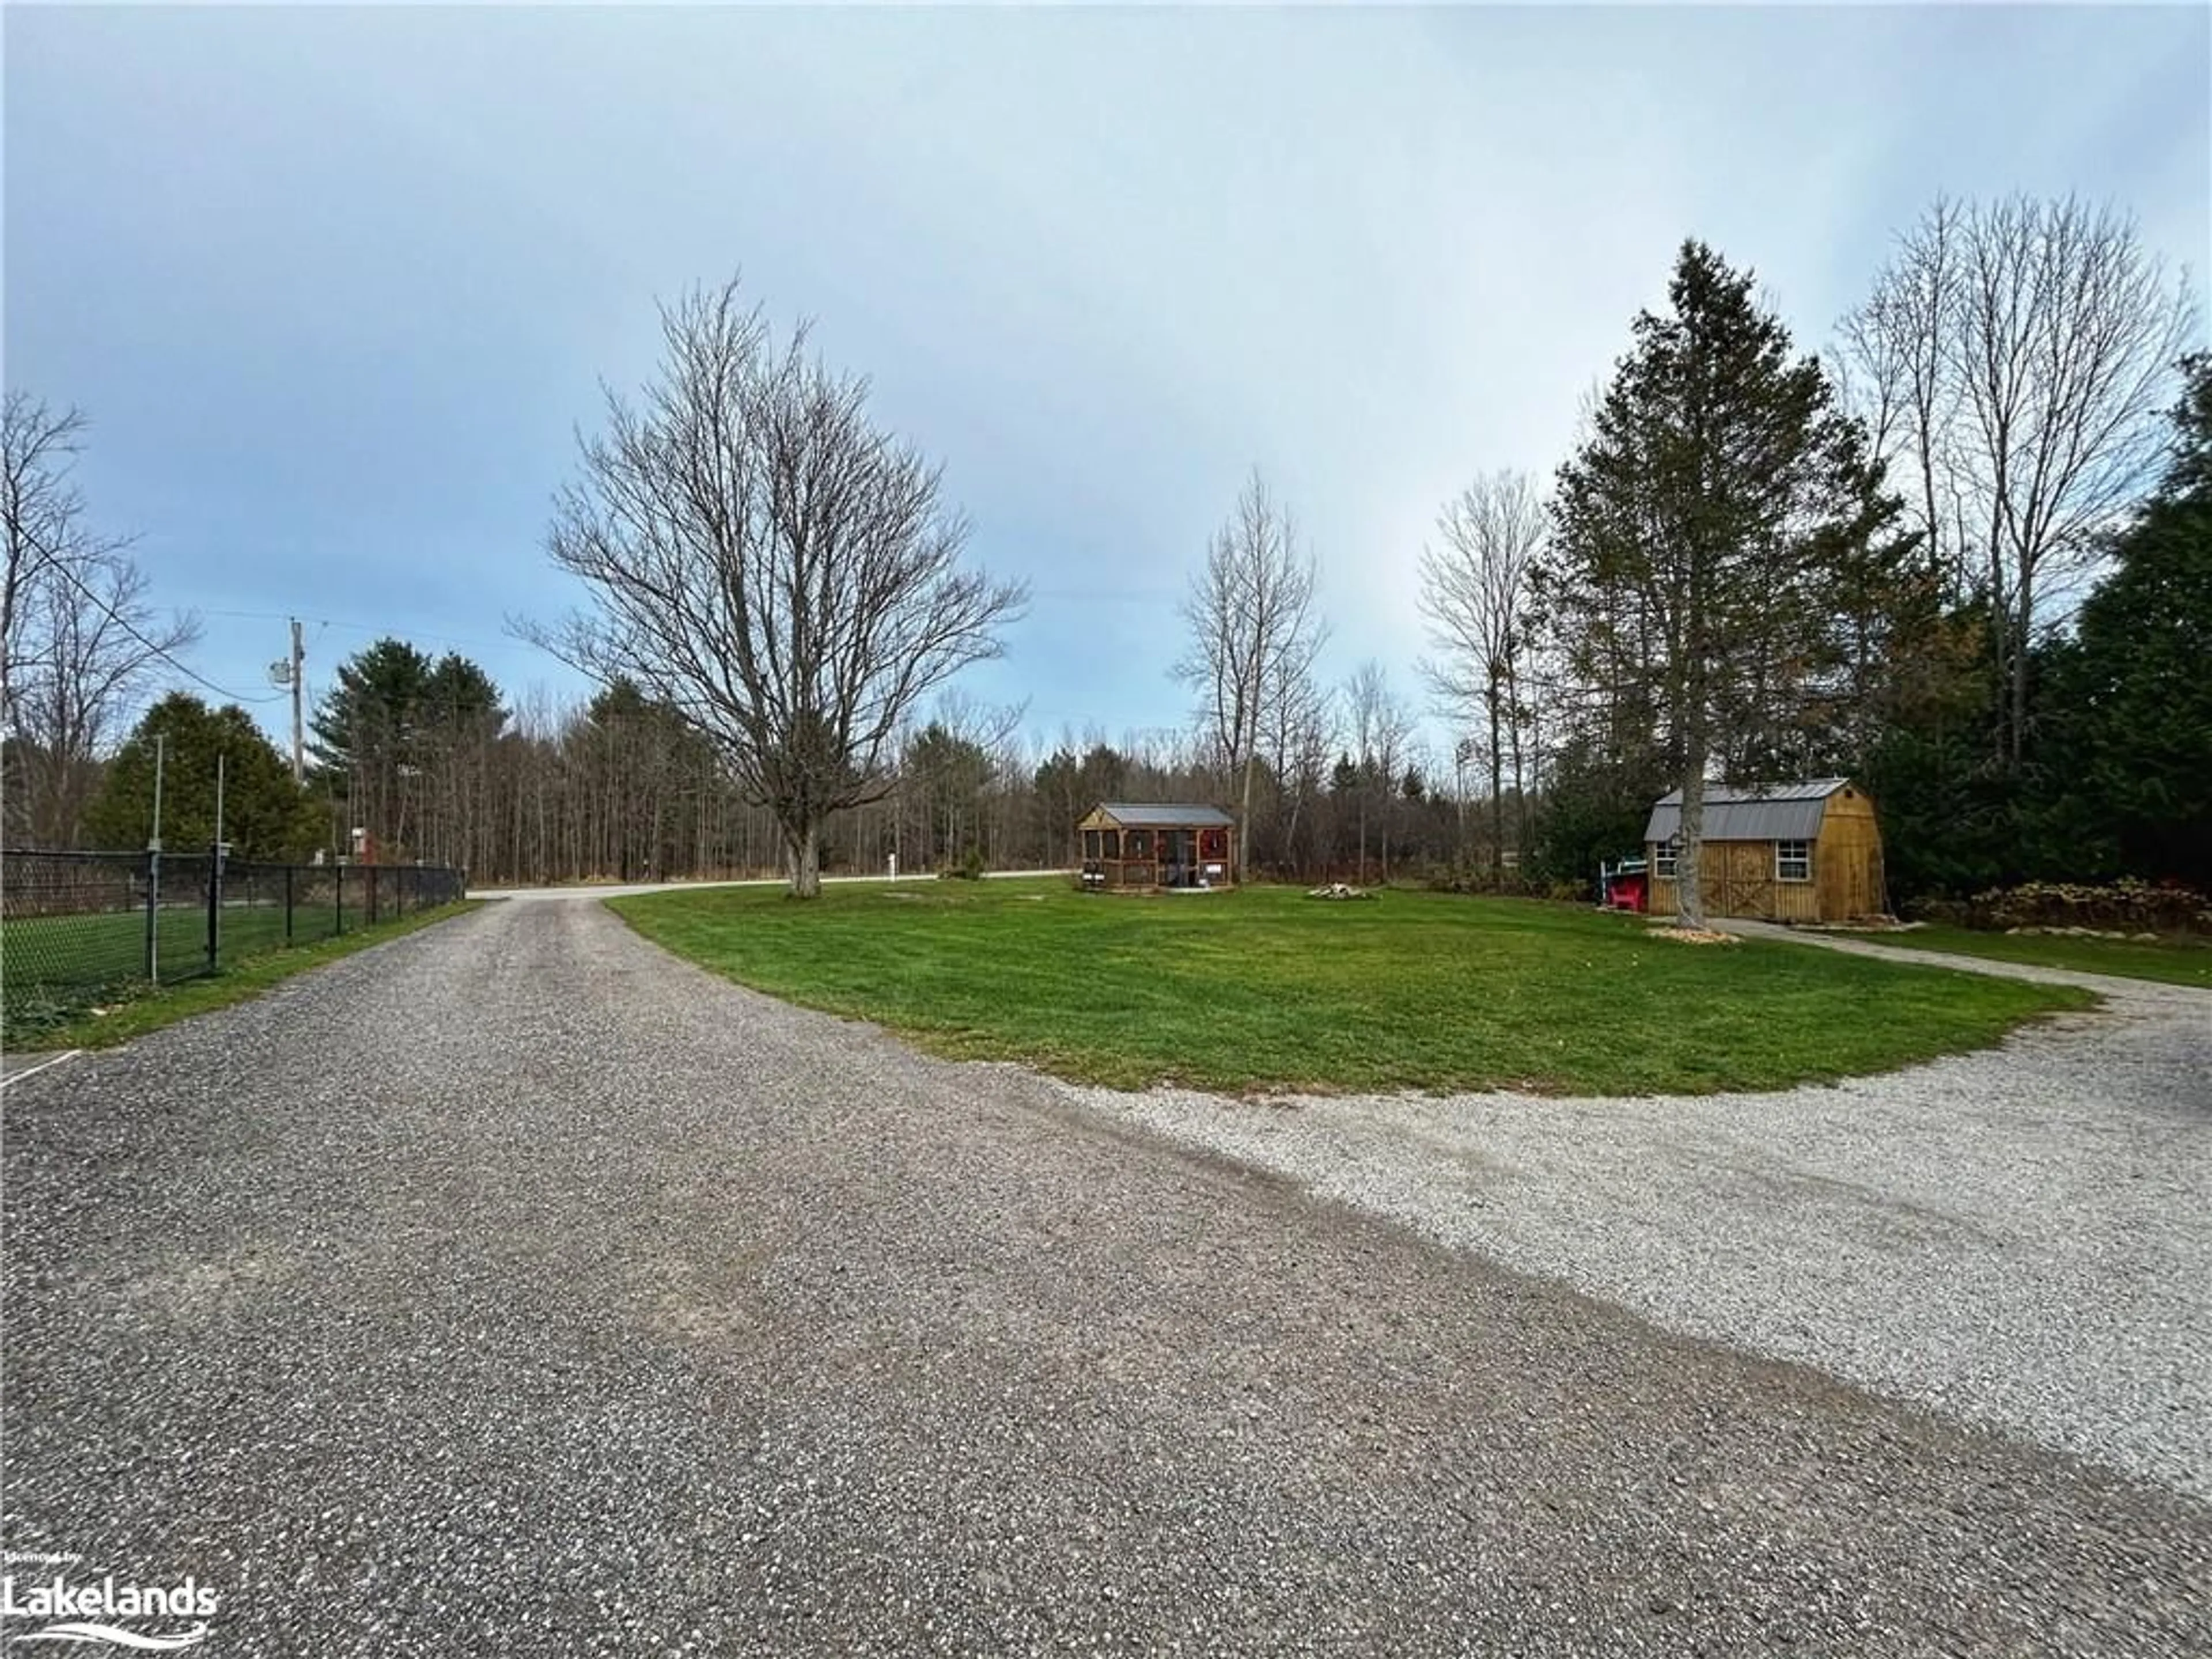
[[[812, 894], [894, 858], [1062, 865], [1088, 805], [1144, 796], [1232, 807], [1254, 872], [1544, 885], [1630, 852], [1668, 787], [1694, 841], [1708, 779], [1843, 774], [1882, 810], [1891, 900], [2212, 878], [2208, 358], [2185, 285], [2108, 208], [1938, 201], [1820, 354], [1686, 241], [1555, 471], [1442, 504], [1411, 690], [1376, 661], [1323, 677], [1318, 551], [1254, 473], [1161, 664], [1190, 723], [1117, 741], [1037, 741], [960, 697], [1026, 595], [967, 562], [940, 469], [874, 422], [865, 378], [803, 325], [779, 341], [737, 283], [661, 334], [549, 529], [588, 604], [511, 619], [599, 690], [518, 703], [465, 657], [376, 641], [316, 708], [305, 785], [234, 763], [292, 792], [241, 827], [257, 854], [781, 869]], [[58, 465], [80, 425], [9, 398], [9, 838], [139, 845], [157, 730], [170, 765], [257, 734], [175, 695], [115, 745], [190, 619], [164, 635], [84, 531]], [[71, 604], [131, 619], [113, 672], [66, 666]]]

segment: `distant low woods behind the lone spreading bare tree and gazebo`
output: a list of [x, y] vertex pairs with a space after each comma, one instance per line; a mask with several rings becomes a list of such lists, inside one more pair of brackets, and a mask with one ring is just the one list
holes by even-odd
[[[1093, 730], [1046, 743], [1024, 734], [1018, 714], [940, 699], [896, 743], [891, 787], [825, 825], [821, 867], [1066, 867], [1075, 821], [1099, 801], [1219, 794], [1221, 768], [1186, 732], [1108, 741]], [[491, 885], [787, 874], [774, 807], [675, 710], [626, 681], [573, 703], [509, 706], [465, 657], [380, 639], [338, 668], [312, 732], [312, 765], [296, 785], [243, 708], [170, 692], [106, 763], [82, 841], [148, 843], [159, 739], [161, 841], [173, 852], [215, 841], [221, 757], [232, 858], [420, 858]], [[1356, 869], [1365, 834], [1369, 872], [1385, 858], [1442, 863], [1455, 825], [1453, 805], [1418, 772], [1387, 785], [1371, 770], [1336, 776], [1298, 830], [1298, 860]]]

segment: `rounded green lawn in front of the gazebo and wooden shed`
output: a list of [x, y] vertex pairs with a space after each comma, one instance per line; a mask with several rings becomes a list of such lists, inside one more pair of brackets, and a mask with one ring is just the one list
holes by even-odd
[[2093, 998], [1787, 942], [1692, 947], [1531, 900], [1064, 880], [644, 894], [703, 967], [956, 1057], [1124, 1088], [1708, 1093], [1973, 1048]]

